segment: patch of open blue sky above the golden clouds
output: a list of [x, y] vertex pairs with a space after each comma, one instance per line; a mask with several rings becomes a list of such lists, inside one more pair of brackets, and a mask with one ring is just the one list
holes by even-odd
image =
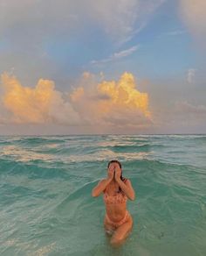
[[[134, 27], [135, 30], [135, 27]], [[93, 60], [105, 60], [133, 46], [138, 50], [118, 61], [91, 65]], [[102, 27], [88, 23], [84, 29], [71, 35], [52, 36], [44, 44], [45, 52], [65, 72], [77, 74], [85, 70], [108, 72], [117, 67], [119, 72], [128, 69], [140, 76], [170, 77], [184, 75], [185, 70], [196, 65], [196, 53], [191, 51], [192, 37], [177, 15], [172, 1], [161, 5], [141, 32], [118, 46]]]

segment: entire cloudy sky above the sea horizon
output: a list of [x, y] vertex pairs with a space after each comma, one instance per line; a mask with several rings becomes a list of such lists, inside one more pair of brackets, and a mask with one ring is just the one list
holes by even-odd
[[0, 135], [206, 133], [204, 0], [0, 0]]

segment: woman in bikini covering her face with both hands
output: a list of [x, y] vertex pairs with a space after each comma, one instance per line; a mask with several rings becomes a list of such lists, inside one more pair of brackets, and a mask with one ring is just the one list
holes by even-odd
[[92, 195], [100, 196], [101, 192], [104, 193], [106, 205], [106, 233], [113, 234], [110, 240], [112, 245], [120, 245], [133, 226], [133, 218], [127, 210], [127, 198], [134, 201], [135, 197], [131, 182], [122, 177], [120, 161], [111, 160], [108, 163], [107, 178], [93, 188]]

